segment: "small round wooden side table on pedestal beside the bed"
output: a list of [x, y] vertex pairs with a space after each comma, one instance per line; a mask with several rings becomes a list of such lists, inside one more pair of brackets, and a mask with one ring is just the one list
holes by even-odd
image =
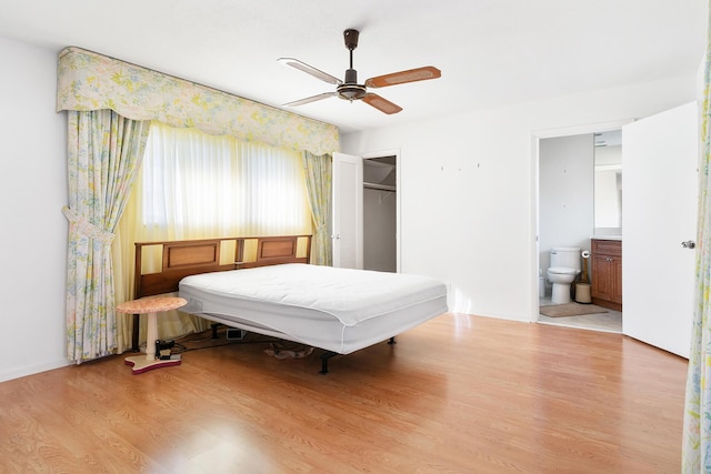
[[148, 296], [131, 300], [116, 306], [116, 311], [127, 314], [148, 314], [148, 334], [146, 335], [146, 355], [126, 357], [126, 365], [133, 367], [133, 374], [151, 369], [180, 365], [180, 359], [156, 359], [156, 341], [158, 340], [158, 313], [184, 306], [188, 301], [176, 296]]

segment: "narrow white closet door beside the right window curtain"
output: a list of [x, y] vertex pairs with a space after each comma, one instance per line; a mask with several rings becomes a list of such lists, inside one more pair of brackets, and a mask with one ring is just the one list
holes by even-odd
[[363, 160], [333, 153], [333, 266], [363, 268]]

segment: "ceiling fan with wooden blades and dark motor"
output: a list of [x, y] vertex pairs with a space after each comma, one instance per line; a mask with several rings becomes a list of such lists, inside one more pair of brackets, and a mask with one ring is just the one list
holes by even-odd
[[306, 99], [297, 100], [293, 102], [284, 103], [284, 105], [294, 107], [303, 105], [304, 103], [316, 102], [317, 100], [328, 99], [331, 97], [338, 97], [343, 100], [354, 101], [362, 100], [367, 104], [374, 107], [384, 113], [398, 113], [402, 110], [400, 105], [397, 105], [382, 97], [369, 92], [368, 88], [384, 88], [387, 85], [404, 84], [407, 82], [424, 81], [428, 79], [437, 79], [442, 75], [439, 69], [427, 65], [424, 68], [410, 69], [407, 71], [393, 72], [390, 74], [378, 75], [370, 78], [364, 84], [358, 83], [358, 72], [353, 69], [353, 50], [358, 48], [359, 31], [348, 29], [343, 31], [343, 40], [346, 41], [346, 48], [350, 51], [350, 68], [346, 70], [346, 78], [343, 81], [340, 79], [316, 69], [306, 62], [299, 61], [293, 58], [280, 58], [278, 61], [291, 65], [300, 71], [309, 73], [317, 79], [336, 85], [334, 92], [324, 92], [318, 95], [312, 95]]

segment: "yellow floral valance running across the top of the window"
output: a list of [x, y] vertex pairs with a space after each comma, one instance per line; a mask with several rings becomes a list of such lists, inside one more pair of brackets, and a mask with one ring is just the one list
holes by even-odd
[[57, 111], [101, 110], [320, 155], [338, 128], [80, 48], [59, 53]]

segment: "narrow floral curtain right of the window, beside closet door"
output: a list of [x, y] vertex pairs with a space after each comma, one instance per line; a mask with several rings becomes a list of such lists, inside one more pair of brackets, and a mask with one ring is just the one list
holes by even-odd
[[331, 155], [317, 157], [307, 151], [303, 152], [302, 160], [314, 225], [311, 263], [331, 266], [333, 264], [329, 230], [332, 185]]

